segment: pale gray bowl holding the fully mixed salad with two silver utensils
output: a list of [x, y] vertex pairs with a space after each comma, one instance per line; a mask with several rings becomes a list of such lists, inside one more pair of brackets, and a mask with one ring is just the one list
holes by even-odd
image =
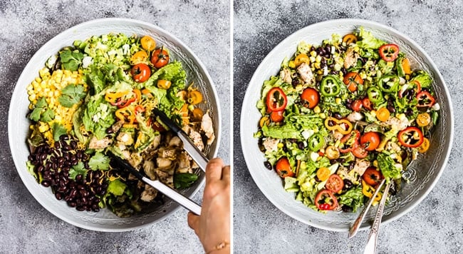
[[[412, 67], [428, 71], [434, 80], [432, 86], [435, 88], [437, 102], [441, 107], [439, 123], [431, 138], [431, 148], [410, 165], [407, 171], [410, 183], [405, 184], [402, 191], [390, 199], [389, 205], [385, 207], [384, 223], [405, 215], [430, 193], [444, 171], [452, 148], [454, 120], [447, 86], [430, 57], [407, 36], [388, 26], [361, 19], [325, 21], [291, 34], [266, 56], [249, 82], [241, 111], [241, 146], [252, 178], [271, 203], [296, 220], [326, 230], [348, 230], [360, 211], [358, 213], [318, 213], [294, 200], [293, 193], [286, 193], [283, 190], [281, 178], [274, 171], [269, 171], [264, 167], [264, 154], [259, 151], [256, 138], [253, 138], [261, 117], [256, 108], [256, 102], [260, 98], [264, 81], [279, 73], [281, 61], [286, 56], [291, 57], [294, 54], [300, 41], [318, 45], [323, 39], [331, 39], [332, 34], [348, 34], [358, 29], [359, 26], [373, 32], [379, 39], [397, 44], [400, 50], [409, 57]], [[369, 220], [373, 220], [374, 212], [375, 209], [372, 209], [367, 214], [361, 225], [362, 229], [370, 226]]]

